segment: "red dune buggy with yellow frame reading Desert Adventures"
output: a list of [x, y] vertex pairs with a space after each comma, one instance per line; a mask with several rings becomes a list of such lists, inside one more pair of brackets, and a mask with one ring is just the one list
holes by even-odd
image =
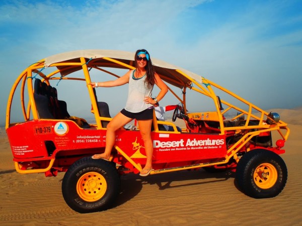
[[[110, 208], [119, 194], [120, 176], [138, 173], [145, 163], [137, 127], [117, 131], [109, 162], [91, 158], [104, 151], [106, 126], [111, 120], [108, 101], [114, 98], [98, 96], [96, 90], [87, 85], [92, 80], [91, 74], [98, 76], [93, 81], [104, 80], [104, 74], [119, 77], [116, 70], [124, 70], [124, 74], [125, 70], [134, 69], [133, 59], [134, 53], [112, 50], [61, 53], [30, 65], [11, 89], [6, 132], [16, 170], [46, 176], [65, 172], [63, 198], [75, 211], [85, 213]], [[175, 109], [172, 122], [158, 121], [154, 114], [155, 170], [151, 174], [200, 168], [210, 172], [229, 169], [236, 171], [238, 188], [246, 195], [253, 198], [278, 195], [287, 180], [286, 165], [279, 154], [285, 152], [283, 147], [289, 136], [287, 124], [279, 115], [266, 112], [195, 73], [157, 59], [153, 59], [153, 63], [183, 110]], [[73, 85], [55, 88], [58, 82], [80, 82], [83, 90], [74, 89]], [[16, 95], [17, 90], [20, 95]], [[72, 91], [86, 93], [85, 103], [93, 113], [93, 122], [70, 115], [71, 104], [66, 100]], [[11, 122], [12, 111], [17, 112], [12, 108], [13, 98], [21, 102], [19, 122]], [[83, 103], [77, 107], [84, 106]], [[190, 108], [197, 110], [189, 112]], [[181, 132], [175, 124], [180, 120], [183, 122]], [[166, 131], [163, 125], [172, 127], [173, 131]], [[275, 144], [274, 132], [279, 136]]]

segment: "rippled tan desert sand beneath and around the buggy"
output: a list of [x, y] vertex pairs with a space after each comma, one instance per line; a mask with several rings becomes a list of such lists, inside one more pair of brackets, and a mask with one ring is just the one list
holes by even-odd
[[16, 172], [4, 128], [0, 130], [0, 225], [302, 225], [302, 108], [273, 109], [288, 123], [281, 157], [288, 169], [276, 197], [253, 199], [234, 185], [234, 173], [203, 169], [121, 177], [112, 209], [81, 214], [61, 194], [57, 177]]

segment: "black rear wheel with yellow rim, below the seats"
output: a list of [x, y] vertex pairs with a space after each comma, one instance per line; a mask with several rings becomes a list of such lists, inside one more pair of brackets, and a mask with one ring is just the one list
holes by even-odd
[[111, 162], [91, 157], [74, 162], [62, 182], [65, 202], [80, 213], [108, 209], [119, 191], [120, 178], [115, 166]]

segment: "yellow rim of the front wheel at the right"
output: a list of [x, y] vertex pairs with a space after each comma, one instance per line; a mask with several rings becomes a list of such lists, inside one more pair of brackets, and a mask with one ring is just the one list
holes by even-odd
[[278, 178], [276, 167], [269, 163], [259, 165], [254, 172], [254, 181], [261, 189], [274, 186]]

